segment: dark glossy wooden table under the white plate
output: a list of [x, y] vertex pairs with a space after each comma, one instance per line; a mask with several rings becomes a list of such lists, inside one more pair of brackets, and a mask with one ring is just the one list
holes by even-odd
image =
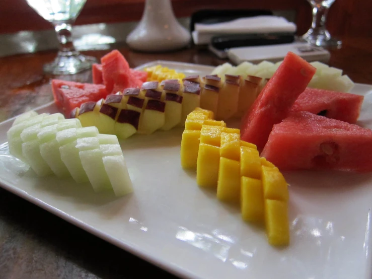
[[[354, 82], [372, 84], [372, 38], [344, 38], [341, 49], [332, 50], [330, 65], [344, 70]], [[164, 59], [218, 65], [206, 50], [145, 54], [118, 49], [131, 67]], [[88, 51], [100, 58], [107, 51]], [[27, 107], [52, 100], [50, 77], [42, 65], [54, 52], [0, 58], [0, 121]], [[75, 77], [89, 81], [90, 74]], [[70, 225], [18, 196], [0, 189], [0, 279], [13, 278], [140, 278], [171, 274]]]

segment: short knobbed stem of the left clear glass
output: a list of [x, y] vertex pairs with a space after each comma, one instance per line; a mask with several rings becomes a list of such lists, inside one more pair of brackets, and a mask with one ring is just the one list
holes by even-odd
[[54, 25], [54, 30], [57, 33], [59, 41], [58, 56], [75, 56], [79, 52], [75, 49], [72, 43], [72, 27], [70, 23], [57, 23]]

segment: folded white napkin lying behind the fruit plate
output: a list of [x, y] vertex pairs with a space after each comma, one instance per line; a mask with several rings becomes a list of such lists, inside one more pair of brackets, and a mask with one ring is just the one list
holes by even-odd
[[192, 38], [197, 45], [208, 44], [213, 36], [230, 33], [294, 33], [296, 25], [288, 22], [283, 17], [276, 16], [257, 16], [240, 18], [229, 22], [215, 24], [195, 24]]

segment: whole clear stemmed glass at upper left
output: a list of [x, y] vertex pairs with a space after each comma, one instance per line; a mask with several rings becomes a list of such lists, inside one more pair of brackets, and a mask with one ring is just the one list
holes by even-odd
[[54, 25], [59, 41], [59, 51], [55, 60], [45, 64], [47, 74], [77, 74], [91, 68], [94, 57], [79, 53], [73, 46], [71, 25], [78, 17], [87, 0], [26, 0], [45, 20]]

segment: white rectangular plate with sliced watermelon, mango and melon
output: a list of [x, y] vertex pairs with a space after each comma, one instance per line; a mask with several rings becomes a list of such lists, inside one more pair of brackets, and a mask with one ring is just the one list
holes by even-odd
[[174, 65], [113, 51], [94, 84], [53, 80], [54, 104], [0, 126], [2, 183], [181, 276], [321, 276], [330, 249], [357, 259], [328, 257], [335, 276], [368, 274], [371, 88], [310, 88], [322, 65], [290, 53], [270, 77]]

